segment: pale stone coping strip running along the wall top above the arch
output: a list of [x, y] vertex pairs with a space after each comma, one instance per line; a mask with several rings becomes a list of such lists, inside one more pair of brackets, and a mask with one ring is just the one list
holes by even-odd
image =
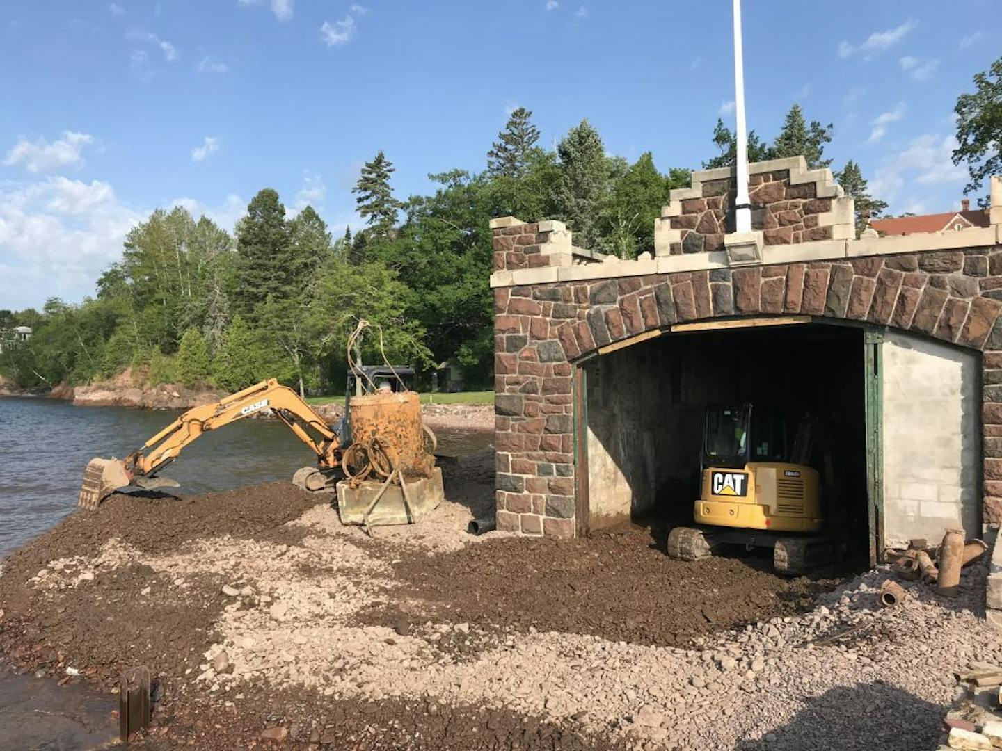
[[[815, 240], [790, 245], [767, 245], [763, 248], [762, 256], [763, 264], [769, 265], [858, 258], [867, 255], [894, 255], [924, 250], [959, 250], [966, 247], [985, 247], [988, 245], [1002, 245], [1002, 225], [963, 229], [959, 232], [949, 230], [886, 237], [861, 237], [860, 239]], [[495, 271], [491, 274], [491, 286], [545, 284], [558, 280], [577, 281], [728, 267], [726, 251], [714, 250], [709, 253], [659, 255], [650, 259], [615, 259], [586, 265]]]

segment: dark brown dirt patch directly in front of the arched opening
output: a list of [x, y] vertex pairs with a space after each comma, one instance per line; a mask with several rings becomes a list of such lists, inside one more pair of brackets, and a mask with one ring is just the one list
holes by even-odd
[[[435, 558], [400, 555], [396, 577], [433, 617], [660, 646], [812, 607], [840, 580], [784, 579], [765, 559], [668, 558], [646, 530], [497, 540]], [[499, 575], [499, 572], [506, 574]], [[394, 608], [372, 623], [392, 625]]]

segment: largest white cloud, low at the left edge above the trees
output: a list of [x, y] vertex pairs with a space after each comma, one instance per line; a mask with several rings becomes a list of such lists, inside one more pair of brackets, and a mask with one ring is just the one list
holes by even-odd
[[118, 258], [125, 233], [141, 218], [99, 180], [0, 182], [0, 266], [6, 278], [18, 279], [4, 289], [4, 304], [93, 293], [94, 279]]

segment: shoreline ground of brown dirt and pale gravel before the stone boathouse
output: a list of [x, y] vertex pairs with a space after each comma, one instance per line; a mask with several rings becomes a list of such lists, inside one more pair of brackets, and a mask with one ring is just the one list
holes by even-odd
[[288, 483], [114, 496], [3, 561], [0, 655], [107, 693], [148, 666], [150, 749], [429, 751], [921, 748], [951, 666], [1002, 657], [969, 611], [983, 567], [881, 611], [886, 572], [685, 564], [661, 531], [474, 538], [492, 467], [448, 463], [445, 504], [373, 537]]

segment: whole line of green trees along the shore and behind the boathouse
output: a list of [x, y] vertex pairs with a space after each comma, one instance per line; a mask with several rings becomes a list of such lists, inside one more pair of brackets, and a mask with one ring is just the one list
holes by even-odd
[[[971, 164], [972, 190], [999, 163], [1000, 77], [1002, 59], [975, 77], [975, 94], [958, 100], [955, 159]], [[771, 142], [748, 134], [748, 157], [803, 154], [812, 168], [830, 166], [832, 136], [831, 124], [807, 121], [794, 104]], [[0, 329], [34, 329], [28, 342], [0, 354], [0, 376], [52, 387], [131, 368], [133, 381], [146, 384], [233, 391], [278, 378], [302, 393], [336, 391], [348, 334], [365, 318], [383, 331], [382, 341], [366, 340], [366, 361], [385, 354], [428, 372], [449, 359], [468, 385], [486, 386], [493, 364], [489, 219], [561, 219], [575, 244], [632, 258], [653, 251], [654, 219], [669, 191], [689, 182], [688, 168], [661, 172], [650, 152], [633, 163], [610, 155], [586, 119], [553, 149], [539, 137], [532, 113], [520, 107], [481, 171], [431, 174], [434, 189], [407, 199], [394, 193], [394, 166], [380, 151], [353, 188], [365, 226], [337, 238], [311, 206], [290, 216], [272, 188], [250, 200], [232, 234], [182, 207], [157, 209], [129, 231], [95, 296], [0, 310]], [[734, 135], [720, 120], [712, 142], [719, 153], [702, 166], [732, 164]], [[856, 199], [858, 221], [886, 210], [856, 161], [835, 174]]]

